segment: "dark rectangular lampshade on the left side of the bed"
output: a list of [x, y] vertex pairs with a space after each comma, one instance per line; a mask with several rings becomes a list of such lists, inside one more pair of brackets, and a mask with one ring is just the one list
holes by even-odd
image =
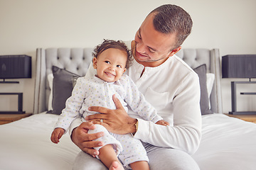
[[[0, 79], [31, 78], [31, 57], [27, 55], [1, 55]], [[0, 81], [17, 82], [17, 81]]]

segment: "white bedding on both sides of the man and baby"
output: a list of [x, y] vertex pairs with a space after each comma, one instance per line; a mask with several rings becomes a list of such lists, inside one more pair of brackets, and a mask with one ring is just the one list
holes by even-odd
[[[80, 149], [64, 135], [50, 134], [58, 115], [40, 113], [0, 125], [0, 169], [71, 169]], [[201, 145], [192, 156], [201, 169], [255, 169], [256, 124], [223, 114], [203, 115]]]

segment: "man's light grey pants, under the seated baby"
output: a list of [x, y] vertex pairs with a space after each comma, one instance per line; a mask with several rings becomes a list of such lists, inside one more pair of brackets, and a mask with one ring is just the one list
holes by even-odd
[[[177, 149], [155, 147], [144, 144], [149, 157], [151, 170], [198, 170], [198, 164], [186, 152]], [[73, 170], [107, 170], [107, 167], [99, 159], [91, 157], [85, 152], [80, 152], [75, 158]]]

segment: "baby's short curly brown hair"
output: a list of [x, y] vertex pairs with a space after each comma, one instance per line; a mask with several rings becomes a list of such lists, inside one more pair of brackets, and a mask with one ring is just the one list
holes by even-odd
[[125, 68], [129, 67], [130, 62], [133, 60], [132, 52], [129, 50], [127, 45], [124, 44], [122, 40], [105, 40], [95, 47], [95, 49], [92, 52], [92, 57], [97, 58], [103, 51], [109, 49], [109, 48], [116, 48], [119, 50], [122, 50], [124, 52], [127, 52], [127, 64]]

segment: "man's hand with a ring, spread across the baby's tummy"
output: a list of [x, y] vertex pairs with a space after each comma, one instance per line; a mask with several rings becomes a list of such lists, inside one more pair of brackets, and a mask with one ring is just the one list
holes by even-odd
[[[113, 101], [117, 107], [116, 110], [92, 106], [90, 111], [102, 114], [88, 115], [85, 120], [90, 120], [95, 124], [103, 125], [108, 131], [116, 134], [127, 134], [135, 132], [136, 119], [129, 117], [124, 110], [122, 103], [113, 95]], [[101, 121], [102, 120], [102, 121]]]

